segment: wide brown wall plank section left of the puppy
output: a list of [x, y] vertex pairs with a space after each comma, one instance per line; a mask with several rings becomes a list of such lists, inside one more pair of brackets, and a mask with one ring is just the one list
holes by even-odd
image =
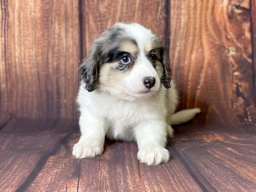
[[14, 117], [77, 118], [78, 1], [1, 2], [1, 108]]

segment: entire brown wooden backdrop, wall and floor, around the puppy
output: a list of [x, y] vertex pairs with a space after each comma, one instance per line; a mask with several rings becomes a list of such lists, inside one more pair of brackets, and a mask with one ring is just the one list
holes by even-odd
[[[256, 188], [254, 0], [0, 3], [0, 191]], [[160, 166], [139, 164], [135, 143], [107, 140], [100, 157], [71, 155], [79, 139], [77, 68], [116, 22], [137, 22], [159, 35], [179, 109], [202, 109], [176, 127], [167, 146], [172, 159]]]

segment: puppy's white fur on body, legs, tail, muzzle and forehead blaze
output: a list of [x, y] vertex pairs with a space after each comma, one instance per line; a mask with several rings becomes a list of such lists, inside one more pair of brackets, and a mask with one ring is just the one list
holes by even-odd
[[[148, 39], [153, 35], [150, 30], [138, 24], [118, 24], [136, 39], [141, 50], [149, 46]], [[173, 137], [171, 125], [188, 121], [199, 111], [194, 109], [174, 114], [178, 102], [174, 82], [168, 90], [160, 86], [157, 72], [143, 52], [138, 61], [139, 64], [117, 87], [99, 85], [96, 90], [88, 92], [80, 86], [77, 101], [81, 111], [81, 138], [73, 148], [75, 157], [102, 154], [107, 136], [112, 140], [136, 141], [139, 148], [137, 158], [147, 165], [169, 160], [165, 146], [167, 134]], [[141, 81], [145, 76], [156, 79], [150, 93], [140, 93], [145, 89]]]

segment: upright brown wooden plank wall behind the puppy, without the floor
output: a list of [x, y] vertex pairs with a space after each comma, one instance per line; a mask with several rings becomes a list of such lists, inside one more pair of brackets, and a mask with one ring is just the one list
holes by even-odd
[[95, 38], [123, 21], [150, 28], [166, 43], [180, 109], [203, 111], [195, 124], [252, 125], [248, 0], [1, 0], [1, 6], [2, 122], [11, 116], [77, 119], [79, 62]]

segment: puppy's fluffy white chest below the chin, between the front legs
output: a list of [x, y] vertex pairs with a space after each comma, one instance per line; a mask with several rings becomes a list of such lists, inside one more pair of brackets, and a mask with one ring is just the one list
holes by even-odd
[[[159, 99], [162, 101], [159, 102]], [[95, 115], [107, 119], [107, 136], [117, 140], [134, 140], [133, 128], [138, 123], [165, 118], [166, 115], [165, 102], [161, 96], [130, 102], [116, 99], [108, 93], [89, 93], [82, 88], [79, 91], [78, 103], [80, 111], [89, 109]]]

